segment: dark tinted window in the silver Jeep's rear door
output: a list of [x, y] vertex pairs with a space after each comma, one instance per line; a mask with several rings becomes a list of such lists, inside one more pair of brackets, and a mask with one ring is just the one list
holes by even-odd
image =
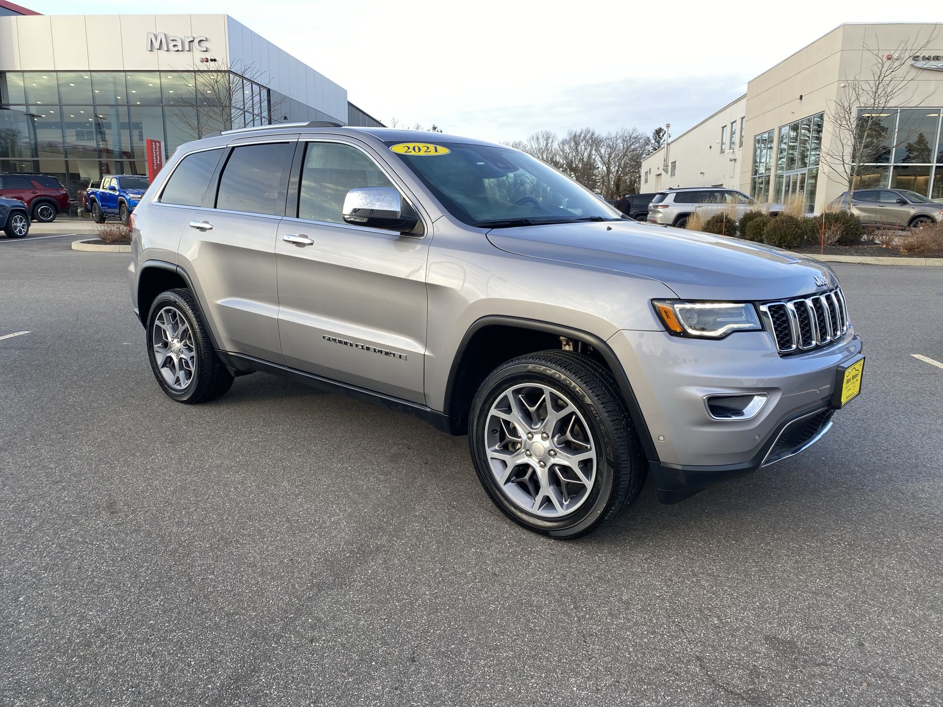
[[290, 142], [272, 142], [234, 149], [223, 167], [216, 207], [282, 215], [285, 212], [282, 172], [293, 147]]

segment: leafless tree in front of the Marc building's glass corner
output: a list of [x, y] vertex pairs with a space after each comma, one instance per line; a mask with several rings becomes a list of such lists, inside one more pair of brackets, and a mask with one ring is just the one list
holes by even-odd
[[[180, 87], [174, 90], [170, 111], [174, 120], [197, 138], [244, 127], [247, 121], [264, 125], [287, 118], [281, 115], [285, 99], [267, 90], [267, 74], [254, 64], [207, 64], [207, 68], [201, 66], [195, 73], [183, 72], [179, 76]], [[243, 78], [252, 83], [243, 83]], [[266, 90], [264, 99], [253, 84]], [[244, 118], [246, 114], [251, 117]]]

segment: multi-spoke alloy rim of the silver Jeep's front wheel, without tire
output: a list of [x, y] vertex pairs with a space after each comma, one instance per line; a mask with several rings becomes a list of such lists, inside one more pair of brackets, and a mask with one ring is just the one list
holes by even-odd
[[505, 496], [528, 513], [560, 518], [587, 500], [596, 447], [586, 419], [549, 386], [507, 388], [488, 410], [488, 465]]

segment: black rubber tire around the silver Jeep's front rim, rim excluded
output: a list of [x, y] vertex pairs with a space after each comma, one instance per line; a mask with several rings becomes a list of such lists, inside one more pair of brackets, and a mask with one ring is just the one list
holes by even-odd
[[[485, 453], [484, 440], [487, 438], [486, 426], [491, 405], [507, 388], [527, 383], [549, 386], [566, 396], [592, 428], [588, 432], [596, 447], [596, 480], [590, 489], [589, 498], [566, 518], [554, 520], [535, 516], [507, 498], [494, 479]], [[597, 401], [593, 400], [586, 388], [574, 380], [570, 373], [536, 361], [521, 361], [493, 372], [479, 388], [472, 403], [469, 445], [475, 471], [488, 496], [507, 516], [528, 529], [541, 534], [567, 537], [586, 532], [605, 517], [615, 482], [613, 430], [601, 414]]]

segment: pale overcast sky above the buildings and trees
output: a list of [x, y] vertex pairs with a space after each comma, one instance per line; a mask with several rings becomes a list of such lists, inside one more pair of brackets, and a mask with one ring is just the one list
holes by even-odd
[[[44, 14], [103, 7], [16, 1]], [[939, 19], [932, 3], [887, 0], [160, 0], [137, 9], [145, 7], [228, 13], [383, 123], [437, 123], [495, 141], [587, 125], [649, 133], [671, 123], [677, 136], [836, 25]]]

